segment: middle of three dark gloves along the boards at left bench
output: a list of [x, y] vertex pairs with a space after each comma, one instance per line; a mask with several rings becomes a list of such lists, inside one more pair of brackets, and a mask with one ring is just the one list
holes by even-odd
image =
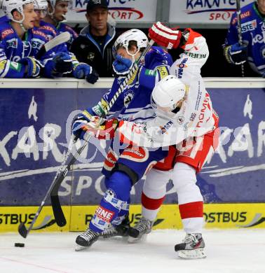
[[71, 56], [66, 52], [58, 52], [53, 57], [53, 70], [55, 73], [71, 73], [73, 67]]

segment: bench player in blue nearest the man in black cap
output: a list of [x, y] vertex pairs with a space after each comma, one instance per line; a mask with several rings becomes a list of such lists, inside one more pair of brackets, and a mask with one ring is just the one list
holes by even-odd
[[69, 25], [64, 24], [63, 21], [66, 20], [66, 14], [69, 8], [72, 8], [72, 0], [48, 0], [48, 13], [44, 22], [53, 25], [57, 29], [57, 34], [64, 31], [68, 31], [71, 34], [71, 38], [67, 42], [67, 48], [69, 49], [74, 39], [79, 35], [69, 27]]

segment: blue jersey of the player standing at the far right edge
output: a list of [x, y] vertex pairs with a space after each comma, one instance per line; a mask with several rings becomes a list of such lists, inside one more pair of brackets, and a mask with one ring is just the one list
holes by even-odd
[[[262, 74], [265, 72], [265, 18], [259, 13], [255, 3], [244, 6], [240, 11], [242, 38], [248, 41], [247, 62], [254, 71]], [[238, 43], [237, 22], [236, 13], [233, 13], [226, 45]]]

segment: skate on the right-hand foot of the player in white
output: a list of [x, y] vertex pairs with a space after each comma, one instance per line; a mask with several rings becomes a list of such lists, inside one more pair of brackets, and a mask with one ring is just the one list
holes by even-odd
[[187, 234], [181, 244], [175, 245], [175, 251], [179, 258], [183, 259], [201, 259], [206, 258], [205, 243], [201, 233]]

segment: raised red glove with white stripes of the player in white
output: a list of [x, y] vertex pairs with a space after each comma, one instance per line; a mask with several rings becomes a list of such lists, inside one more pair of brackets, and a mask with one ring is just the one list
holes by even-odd
[[171, 49], [179, 46], [182, 32], [177, 29], [170, 29], [161, 24], [161, 22], [156, 22], [149, 29], [149, 37], [158, 45]]

